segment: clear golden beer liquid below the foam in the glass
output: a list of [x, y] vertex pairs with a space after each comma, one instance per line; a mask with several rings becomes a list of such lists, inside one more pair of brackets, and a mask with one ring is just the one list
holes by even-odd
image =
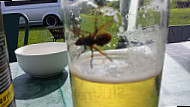
[[72, 78], [74, 107], [157, 107], [156, 79], [129, 83], [98, 83]]

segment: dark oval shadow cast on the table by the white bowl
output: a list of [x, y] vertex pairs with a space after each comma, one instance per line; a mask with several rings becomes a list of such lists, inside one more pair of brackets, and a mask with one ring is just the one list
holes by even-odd
[[13, 80], [15, 98], [18, 100], [35, 99], [59, 89], [66, 81], [66, 71], [50, 78], [35, 78], [23, 74]]

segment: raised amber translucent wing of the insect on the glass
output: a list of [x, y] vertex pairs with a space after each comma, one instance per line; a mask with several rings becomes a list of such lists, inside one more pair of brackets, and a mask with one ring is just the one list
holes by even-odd
[[107, 31], [107, 29], [108, 29], [110, 26], [112, 26], [113, 23], [114, 23], [114, 20], [113, 20], [113, 19], [112, 19], [112, 20], [109, 20], [108, 22], [106, 22], [104, 25], [102, 25], [102, 26], [98, 29], [96, 35], [100, 35], [101, 33], [105, 33], [105, 32]]

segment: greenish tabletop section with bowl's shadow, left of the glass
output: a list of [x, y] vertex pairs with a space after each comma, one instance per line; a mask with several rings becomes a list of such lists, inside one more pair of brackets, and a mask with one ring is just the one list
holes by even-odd
[[68, 67], [47, 79], [25, 74], [17, 62], [10, 68], [17, 107], [72, 107]]

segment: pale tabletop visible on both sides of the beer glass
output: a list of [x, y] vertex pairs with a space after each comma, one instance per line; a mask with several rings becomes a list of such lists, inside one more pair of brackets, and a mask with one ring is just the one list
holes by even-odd
[[[34, 78], [10, 63], [17, 107], [72, 107], [68, 68], [62, 74]], [[190, 105], [190, 42], [167, 44], [160, 107]]]

